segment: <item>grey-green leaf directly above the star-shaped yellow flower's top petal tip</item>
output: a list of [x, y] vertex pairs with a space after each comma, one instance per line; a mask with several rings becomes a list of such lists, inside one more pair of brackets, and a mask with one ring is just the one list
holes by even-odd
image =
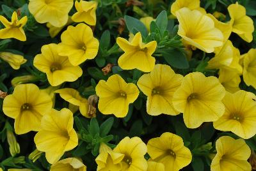
[[136, 29], [137, 31], [140, 31], [141, 35], [146, 38], [148, 36], [148, 31], [146, 26], [138, 19], [135, 19], [134, 17], [130, 17], [128, 15], [125, 15], [124, 17], [127, 29], [133, 33], [133, 30]]

